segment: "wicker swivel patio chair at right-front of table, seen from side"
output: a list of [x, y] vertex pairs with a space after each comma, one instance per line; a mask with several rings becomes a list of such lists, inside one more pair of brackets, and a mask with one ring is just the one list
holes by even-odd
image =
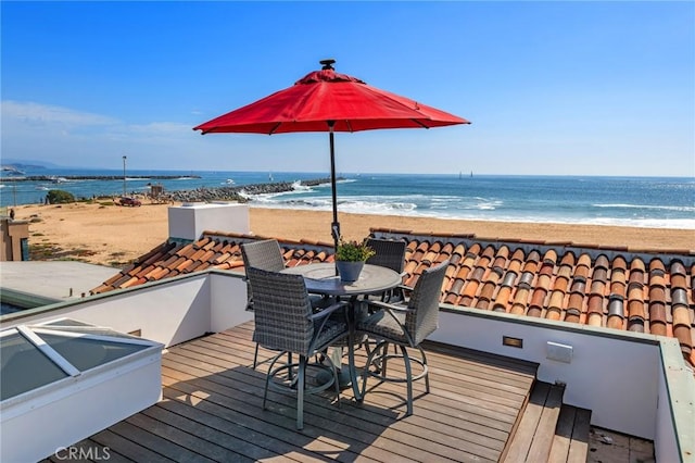
[[[439, 300], [447, 265], [448, 261], [444, 261], [422, 272], [407, 302], [403, 301], [399, 304], [381, 301], [367, 302], [378, 310], [366, 318], [358, 320], [356, 331], [364, 333], [376, 340], [377, 346], [367, 356], [363, 374], [362, 397], [366, 393], [368, 377], [378, 378], [379, 384], [383, 381], [406, 383], [406, 416], [408, 416], [413, 414], [413, 381], [425, 378], [425, 393], [429, 393], [427, 356], [420, 343], [438, 328]], [[389, 353], [390, 343], [397, 346], [401, 353]], [[417, 349], [420, 356], [410, 356], [408, 348]], [[393, 358], [403, 359], [405, 377], [388, 376], [387, 361]], [[419, 364], [421, 371], [418, 374], [413, 374], [413, 363]]]

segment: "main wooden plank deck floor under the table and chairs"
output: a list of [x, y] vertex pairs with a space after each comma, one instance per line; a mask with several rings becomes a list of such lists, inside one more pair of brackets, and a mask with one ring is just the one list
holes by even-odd
[[77, 447], [108, 450], [111, 462], [498, 461], [535, 377], [529, 362], [428, 343], [431, 392], [416, 381], [412, 416], [405, 385], [382, 384], [362, 404], [352, 389], [340, 406], [309, 396], [298, 431], [294, 397], [271, 391], [262, 410], [266, 365], [251, 367], [252, 330], [251, 322], [169, 348], [163, 399]]

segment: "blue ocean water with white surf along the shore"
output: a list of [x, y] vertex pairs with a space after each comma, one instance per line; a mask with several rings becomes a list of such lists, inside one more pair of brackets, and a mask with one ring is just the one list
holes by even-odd
[[[3, 173], [5, 175], [7, 173]], [[123, 193], [123, 171], [50, 170], [53, 182], [7, 183], [0, 179], [0, 205], [42, 203], [49, 189], [78, 198]], [[70, 175], [112, 175], [114, 180], [61, 180]], [[177, 179], [130, 176], [176, 175]], [[339, 174], [340, 212], [570, 224], [624, 225], [695, 229], [694, 177], [592, 177]], [[193, 178], [200, 176], [200, 178]], [[127, 171], [128, 193], [147, 193], [149, 185], [165, 191], [215, 188], [328, 177], [328, 173]], [[250, 197], [251, 205], [330, 211], [330, 185], [296, 186], [291, 192]]]

